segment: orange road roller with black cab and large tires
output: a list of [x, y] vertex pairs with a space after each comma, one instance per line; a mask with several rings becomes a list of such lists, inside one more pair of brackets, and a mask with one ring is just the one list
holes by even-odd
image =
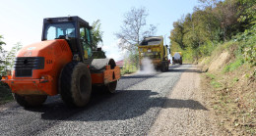
[[94, 59], [92, 26], [79, 17], [43, 20], [41, 41], [16, 57], [12, 76], [2, 81], [23, 107], [36, 107], [60, 94], [71, 107], [89, 103], [92, 86], [114, 93], [120, 68], [113, 59]]

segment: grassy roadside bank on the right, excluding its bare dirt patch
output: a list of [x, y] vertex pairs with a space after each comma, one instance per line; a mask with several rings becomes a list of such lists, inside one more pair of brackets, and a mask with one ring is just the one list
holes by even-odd
[[256, 135], [256, 36], [218, 45], [205, 68], [228, 51], [229, 62], [221, 70], [204, 73], [202, 85], [210, 106], [224, 132], [231, 135]]

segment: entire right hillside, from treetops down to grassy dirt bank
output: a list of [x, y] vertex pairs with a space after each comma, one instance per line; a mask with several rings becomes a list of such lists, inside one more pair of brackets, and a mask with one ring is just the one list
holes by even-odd
[[256, 2], [199, 1], [173, 23], [171, 50], [202, 66], [203, 90], [224, 132], [255, 135]]

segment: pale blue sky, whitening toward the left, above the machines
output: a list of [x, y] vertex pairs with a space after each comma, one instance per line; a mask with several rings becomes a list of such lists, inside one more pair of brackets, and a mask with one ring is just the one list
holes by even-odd
[[147, 24], [157, 25], [156, 35], [165, 37], [169, 45], [172, 23], [193, 12], [198, 0], [0, 0], [0, 35], [10, 50], [17, 42], [30, 45], [41, 40], [44, 18], [79, 16], [92, 24], [100, 20], [103, 31], [102, 50], [107, 58], [123, 59], [114, 35], [120, 31], [124, 14], [133, 7], [145, 7]]

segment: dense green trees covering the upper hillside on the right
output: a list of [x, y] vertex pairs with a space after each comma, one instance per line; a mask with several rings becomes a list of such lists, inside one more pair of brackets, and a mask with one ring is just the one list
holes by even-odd
[[256, 66], [255, 0], [199, 0], [192, 14], [173, 23], [170, 31], [172, 51], [184, 52], [188, 62], [210, 56], [220, 44], [239, 41], [241, 62]]

